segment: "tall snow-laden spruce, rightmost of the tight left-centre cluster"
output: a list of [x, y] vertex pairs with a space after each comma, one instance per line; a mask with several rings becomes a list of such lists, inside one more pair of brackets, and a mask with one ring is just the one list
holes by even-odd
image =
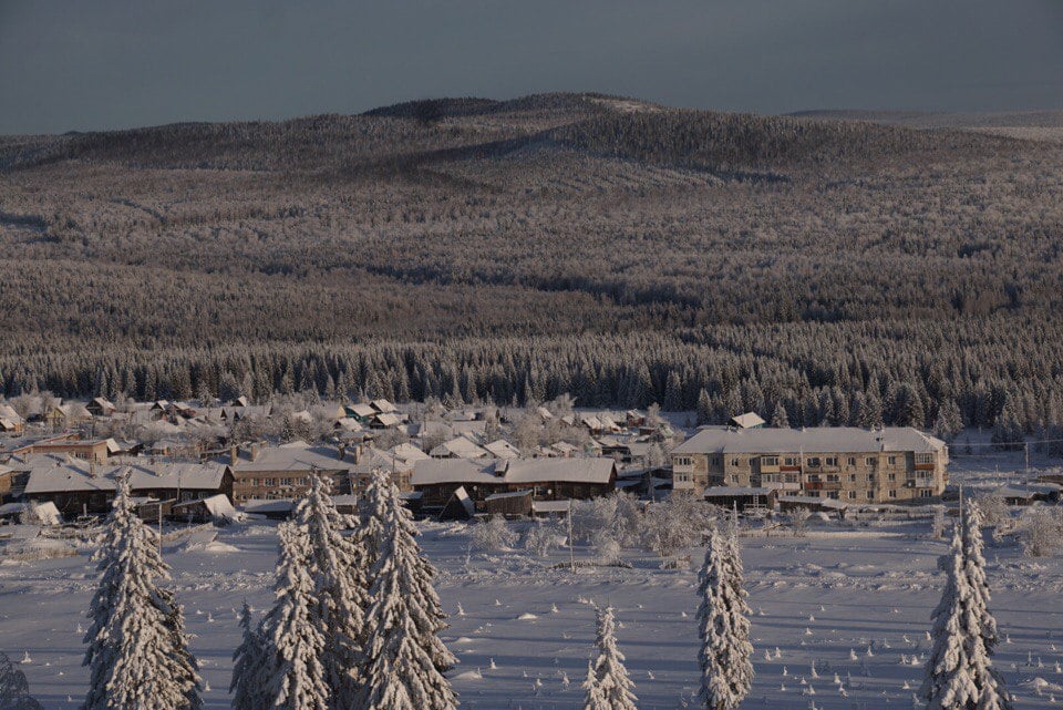
[[432, 587], [435, 569], [414, 539], [410, 511], [390, 480], [381, 501], [379, 557], [369, 575], [361, 710], [452, 710], [457, 697], [443, 672], [457, 660], [438, 634], [446, 616]]

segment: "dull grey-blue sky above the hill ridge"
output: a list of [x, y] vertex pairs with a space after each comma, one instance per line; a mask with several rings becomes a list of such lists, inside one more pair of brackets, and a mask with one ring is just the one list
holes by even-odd
[[0, 133], [545, 91], [1063, 109], [1063, 0], [0, 0]]

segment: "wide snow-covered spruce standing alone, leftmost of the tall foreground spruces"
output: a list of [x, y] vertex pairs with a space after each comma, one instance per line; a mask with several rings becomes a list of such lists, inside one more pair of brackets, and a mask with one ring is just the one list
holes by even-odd
[[89, 693], [84, 710], [198, 710], [198, 667], [188, 651], [182, 609], [158, 586], [169, 568], [158, 535], [136, 516], [126, 476], [96, 554], [102, 573], [85, 634]]

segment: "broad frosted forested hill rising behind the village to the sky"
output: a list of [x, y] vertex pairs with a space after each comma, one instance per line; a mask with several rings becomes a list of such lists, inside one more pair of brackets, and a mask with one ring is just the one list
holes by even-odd
[[1041, 135], [548, 94], [0, 138], [0, 388], [991, 423], [1063, 377]]

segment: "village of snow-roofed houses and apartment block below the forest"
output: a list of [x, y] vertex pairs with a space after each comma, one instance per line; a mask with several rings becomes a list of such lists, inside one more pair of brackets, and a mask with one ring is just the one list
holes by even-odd
[[[656, 405], [584, 411], [568, 397], [520, 409], [314, 400], [0, 401], [0, 518], [90, 524], [125, 475], [141, 517], [168, 523], [287, 517], [311, 474], [353, 511], [374, 472], [414, 515], [441, 521], [551, 517], [615, 492], [761, 518], [957, 497], [949, 446], [907, 426], [778, 429], [747, 412], [695, 429]], [[1056, 502], [1060, 483], [1016, 473], [999, 492]]]

